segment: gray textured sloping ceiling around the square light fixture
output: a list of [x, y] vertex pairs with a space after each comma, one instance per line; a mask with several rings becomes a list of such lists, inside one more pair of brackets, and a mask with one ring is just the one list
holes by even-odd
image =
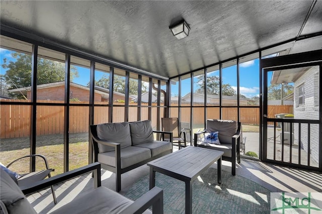
[[[321, 33], [322, 1], [1, 1], [0, 18], [3, 25], [174, 77]], [[178, 40], [169, 26], [181, 19], [191, 31]], [[303, 41], [281, 48], [322, 48], [321, 36]]]

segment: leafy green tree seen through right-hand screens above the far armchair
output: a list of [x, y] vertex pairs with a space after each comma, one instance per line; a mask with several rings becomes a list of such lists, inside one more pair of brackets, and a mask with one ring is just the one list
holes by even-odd
[[[207, 94], [213, 94], [218, 95], [219, 94], [219, 76], [209, 76], [207, 77]], [[203, 75], [200, 75], [197, 80], [197, 84], [200, 85], [200, 87], [196, 90], [197, 93], [204, 93], [204, 86], [205, 86], [205, 78]], [[222, 95], [226, 96], [236, 96], [237, 93], [235, 90], [231, 87], [230, 84], [222, 84], [221, 85]]]

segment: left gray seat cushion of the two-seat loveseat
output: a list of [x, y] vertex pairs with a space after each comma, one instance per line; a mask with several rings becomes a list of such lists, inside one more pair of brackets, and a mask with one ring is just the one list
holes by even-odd
[[[121, 149], [121, 168], [124, 169], [133, 164], [151, 158], [151, 151], [146, 148], [129, 146]], [[115, 167], [115, 151], [98, 154], [100, 163]]]

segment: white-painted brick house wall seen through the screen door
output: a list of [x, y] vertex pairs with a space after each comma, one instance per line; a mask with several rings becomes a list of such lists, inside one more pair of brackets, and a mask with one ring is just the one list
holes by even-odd
[[[311, 67], [300, 78], [294, 82], [294, 119], [318, 120], [318, 66]], [[304, 104], [299, 104], [299, 88], [304, 88]], [[299, 125], [294, 124], [294, 140], [298, 142]], [[308, 150], [308, 128], [306, 124], [301, 125], [300, 145], [318, 163], [318, 124], [310, 126], [310, 151]]]

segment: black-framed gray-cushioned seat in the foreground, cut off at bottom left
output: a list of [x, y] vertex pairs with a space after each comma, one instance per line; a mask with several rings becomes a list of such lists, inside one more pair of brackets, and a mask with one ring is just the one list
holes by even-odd
[[[25, 194], [48, 188], [84, 173], [94, 172], [94, 189], [76, 196], [71, 202], [62, 205], [51, 213], [163, 213], [163, 190], [153, 188], [135, 201], [101, 186], [101, 165], [93, 163], [51, 178], [38, 181], [21, 191], [15, 181], [1, 169], [1, 210], [0, 213], [37, 213]], [[59, 198], [59, 197], [58, 197]], [[59, 204], [59, 203], [58, 203]]]

